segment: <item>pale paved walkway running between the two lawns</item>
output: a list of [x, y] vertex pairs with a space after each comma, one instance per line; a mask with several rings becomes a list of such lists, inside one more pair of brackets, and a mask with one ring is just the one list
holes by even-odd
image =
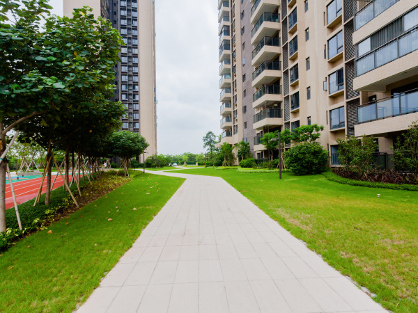
[[385, 312], [219, 177], [187, 180], [82, 312]]

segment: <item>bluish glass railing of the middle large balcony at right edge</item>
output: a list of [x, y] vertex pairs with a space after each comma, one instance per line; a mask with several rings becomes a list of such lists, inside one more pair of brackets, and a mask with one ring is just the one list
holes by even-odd
[[355, 76], [359, 77], [415, 50], [418, 50], [418, 26], [408, 31], [408, 33], [387, 42], [382, 47], [357, 58], [355, 61]]

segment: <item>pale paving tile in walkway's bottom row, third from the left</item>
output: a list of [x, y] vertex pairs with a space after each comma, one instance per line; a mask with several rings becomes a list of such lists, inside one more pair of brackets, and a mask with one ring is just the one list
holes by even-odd
[[173, 284], [148, 285], [137, 312], [167, 312], [172, 289]]

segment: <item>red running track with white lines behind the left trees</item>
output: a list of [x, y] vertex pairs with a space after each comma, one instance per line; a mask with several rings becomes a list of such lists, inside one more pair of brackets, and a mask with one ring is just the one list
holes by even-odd
[[[54, 182], [55, 176], [52, 176], [51, 184]], [[70, 175], [70, 181], [71, 181], [71, 175]], [[34, 178], [34, 179], [28, 179], [22, 182], [13, 182], [13, 188], [15, 188], [15, 195], [17, 204], [21, 204], [23, 202], [29, 201], [33, 198], [36, 198], [36, 195], [38, 195], [40, 182], [42, 182], [42, 177]], [[63, 178], [61, 175], [56, 178], [54, 189], [59, 188], [64, 185]], [[47, 190], [47, 179], [42, 184], [42, 193], [45, 193]], [[10, 209], [11, 207], [14, 207], [15, 204], [13, 203], [13, 195], [12, 190], [10, 189], [10, 184], [6, 185], [6, 209]]]

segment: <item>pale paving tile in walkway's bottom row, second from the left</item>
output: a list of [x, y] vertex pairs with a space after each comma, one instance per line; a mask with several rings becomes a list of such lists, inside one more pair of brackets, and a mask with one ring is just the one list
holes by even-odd
[[146, 286], [123, 286], [106, 313], [135, 313], [146, 291]]

